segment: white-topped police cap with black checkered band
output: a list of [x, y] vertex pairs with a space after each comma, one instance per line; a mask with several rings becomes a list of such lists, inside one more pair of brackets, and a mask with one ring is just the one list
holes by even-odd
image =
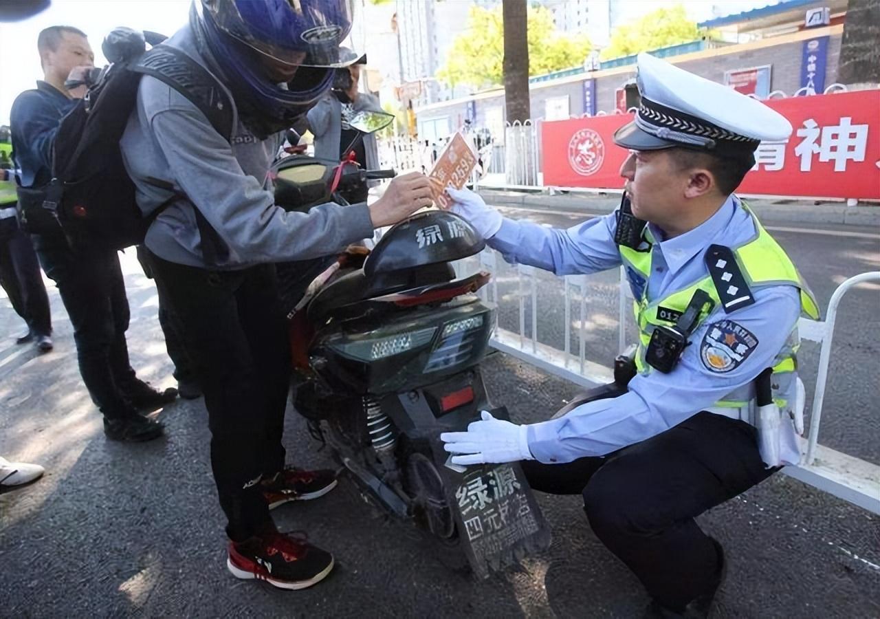
[[791, 123], [757, 99], [649, 54], [639, 54], [637, 62], [642, 102], [635, 120], [614, 133], [624, 148], [751, 154], [763, 140], [791, 135]]

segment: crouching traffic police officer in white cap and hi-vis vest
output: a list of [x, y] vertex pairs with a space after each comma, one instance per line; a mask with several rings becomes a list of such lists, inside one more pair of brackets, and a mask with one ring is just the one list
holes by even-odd
[[594, 533], [648, 590], [649, 614], [705, 616], [724, 558], [694, 518], [797, 462], [796, 323], [818, 308], [732, 194], [788, 121], [647, 54], [638, 85], [634, 122], [614, 135], [630, 155], [611, 215], [555, 230], [448, 189], [508, 262], [561, 276], [624, 266], [640, 329], [634, 376], [539, 424], [484, 412], [441, 438], [453, 462], [523, 461], [536, 490], [583, 493]]

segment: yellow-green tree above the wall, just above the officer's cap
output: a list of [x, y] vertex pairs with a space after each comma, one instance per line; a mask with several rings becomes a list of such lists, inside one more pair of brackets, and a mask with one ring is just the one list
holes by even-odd
[[676, 4], [671, 8], [651, 11], [632, 23], [615, 28], [608, 47], [601, 57], [620, 58], [651, 49], [686, 43], [700, 39], [700, 29], [687, 18], [685, 7]]

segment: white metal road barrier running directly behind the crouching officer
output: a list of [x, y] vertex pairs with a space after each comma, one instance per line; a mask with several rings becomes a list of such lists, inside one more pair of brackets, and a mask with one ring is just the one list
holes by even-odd
[[[487, 248], [480, 254], [479, 267], [488, 269], [493, 275], [496, 275], [498, 260], [498, 255]], [[467, 267], [466, 263], [459, 262], [456, 265], [458, 274], [465, 274], [470, 270]], [[582, 387], [596, 387], [613, 380], [611, 367], [590, 362], [586, 358], [586, 291], [588, 289], [596, 291], [596, 285], [592, 280], [595, 276], [579, 275], [558, 278], [559, 284], [557, 285], [562, 287], [562, 297], [565, 301], [565, 328], [563, 329], [565, 340], [562, 348], [554, 348], [538, 341], [538, 316], [540, 312], [537, 291], [538, 269], [517, 265], [515, 271], [517, 276], [517, 299], [515, 301], [511, 300], [509, 296], [508, 298], [499, 298], [495, 276], [488, 288], [480, 291], [482, 298], [494, 302], [499, 306], [499, 309], [505, 304], [508, 306], [514, 302], [518, 304], [518, 331], [497, 328], [492, 339], [492, 345], [495, 349], [522, 359], [562, 379], [571, 380]], [[822, 348], [810, 416], [810, 434], [809, 438], [802, 439], [806, 455], [799, 466], [783, 468], [782, 472], [804, 483], [809, 483], [819, 490], [825, 490], [836, 497], [843, 498], [854, 505], [859, 505], [870, 512], [880, 514], [880, 466], [854, 458], [846, 453], [840, 453], [818, 443], [819, 424], [822, 420], [825, 403], [828, 367], [831, 361], [832, 335], [840, 298], [854, 285], [869, 281], [880, 281], [880, 271], [862, 273], [850, 277], [846, 282], [840, 284], [828, 304], [825, 321], [801, 319], [798, 322], [801, 337], [805, 340], [821, 343]], [[629, 291], [629, 286], [625, 283], [623, 269], [620, 269], [620, 284], [616, 284], [618, 288], [619, 351], [626, 348], [626, 326], [632, 322], [632, 294]], [[544, 284], [546, 285], [548, 282], [545, 281]], [[573, 335], [573, 304], [579, 306], [579, 333], [577, 334], [579, 350], [576, 351], [570, 350]], [[529, 328], [526, 328], [527, 313], [531, 315], [531, 321], [528, 321]]]

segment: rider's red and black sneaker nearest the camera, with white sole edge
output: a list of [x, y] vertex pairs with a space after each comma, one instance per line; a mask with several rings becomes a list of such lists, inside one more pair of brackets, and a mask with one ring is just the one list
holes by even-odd
[[304, 536], [277, 531], [230, 542], [226, 567], [236, 578], [265, 580], [280, 589], [304, 589], [326, 578], [334, 560], [326, 550], [306, 542]]

